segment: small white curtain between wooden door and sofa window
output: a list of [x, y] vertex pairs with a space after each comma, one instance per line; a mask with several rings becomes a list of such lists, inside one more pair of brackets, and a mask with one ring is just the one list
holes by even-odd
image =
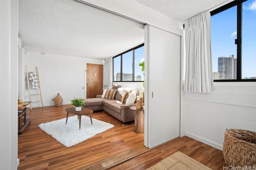
[[103, 66], [103, 85], [112, 86], [113, 82], [113, 71], [112, 71], [112, 57], [104, 60]]

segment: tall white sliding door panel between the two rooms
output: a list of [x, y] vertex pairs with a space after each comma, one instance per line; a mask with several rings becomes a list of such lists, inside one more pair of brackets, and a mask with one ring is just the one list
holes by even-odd
[[145, 146], [180, 136], [181, 37], [145, 26]]

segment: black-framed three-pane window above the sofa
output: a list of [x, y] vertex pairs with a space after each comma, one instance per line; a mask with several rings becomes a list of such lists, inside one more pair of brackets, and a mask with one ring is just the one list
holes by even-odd
[[143, 61], [144, 44], [113, 57], [113, 81], [144, 81], [142, 67], [139, 66]]

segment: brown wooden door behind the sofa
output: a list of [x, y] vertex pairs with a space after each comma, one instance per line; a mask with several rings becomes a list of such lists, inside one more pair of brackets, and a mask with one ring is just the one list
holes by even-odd
[[96, 98], [103, 93], [103, 65], [87, 63], [86, 98]]

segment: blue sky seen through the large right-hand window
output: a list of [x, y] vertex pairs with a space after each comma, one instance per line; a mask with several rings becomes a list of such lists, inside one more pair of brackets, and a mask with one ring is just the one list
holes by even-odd
[[[242, 78], [256, 77], [256, 0], [243, 3]], [[211, 17], [212, 65], [218, 72], [218, 57], [236, 58], [236, 7]]]

